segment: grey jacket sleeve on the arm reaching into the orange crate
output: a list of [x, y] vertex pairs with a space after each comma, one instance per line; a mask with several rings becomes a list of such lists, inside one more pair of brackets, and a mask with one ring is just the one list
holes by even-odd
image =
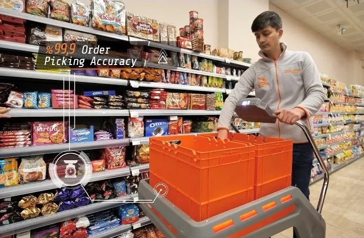
[[254, 89], [255, 72], [253, 67], [249, 67], [240, 77], [239, 81], [235, 84], [234, 89], [231, 91], [229, 96], [226, 98], [222, 107], [218, 127], [219, 129], [230, 130], [230, 123], [233, 118], [236, 103], [246, 98], [250, 92]]

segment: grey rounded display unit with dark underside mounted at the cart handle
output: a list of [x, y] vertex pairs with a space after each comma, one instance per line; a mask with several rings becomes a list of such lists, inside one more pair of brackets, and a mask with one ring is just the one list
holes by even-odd
[[235, 113], [244, 121], [275, 123], [274, 112], [259, 98], [245, 98], [236, 104]]

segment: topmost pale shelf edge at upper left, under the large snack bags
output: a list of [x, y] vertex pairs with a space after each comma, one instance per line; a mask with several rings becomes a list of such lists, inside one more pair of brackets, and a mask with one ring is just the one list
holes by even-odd
[[51, 19], [51, 18], [47, 18], [47, 17], [36, 16], [36, 15], [32, 15], [32, 14], [25, 13], [25, 12], [15, 12], [15, 11], [9, 11], [9, 10], [0, 8], [0, 14], [17, 17], [17, 18], [25, 19], [25, 20], [35, 21], [37, 23], [43, 23], [43, 24], [52, 25], [52, 26], [56, 26], [56, 27], [72, 29], [75, 31], [86, 32], [89, 34], [105, 36], [105, 37], [114, 38], [114, 39], [123, 40], [123, 41], [129, 41], [129, 37], [126, 35], [118, 35], [118, 34], [111, 33], [111, 32], [99, 31], [99, 30], [95, 30], [90, 27], [83, 27], [83, 26], [79, 26], [76, 24], [66, 23], [64, 21], [55, 20], [55, 19]]

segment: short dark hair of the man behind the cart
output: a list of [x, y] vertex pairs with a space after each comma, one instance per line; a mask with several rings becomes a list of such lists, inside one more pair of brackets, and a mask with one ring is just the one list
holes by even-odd
[[267, 26], [271, 26], [276, 31], [282, 29], [282, 19], [277, 12], [265, 11], [260, 13], [253, 21], [252, 32], [262, 30]]

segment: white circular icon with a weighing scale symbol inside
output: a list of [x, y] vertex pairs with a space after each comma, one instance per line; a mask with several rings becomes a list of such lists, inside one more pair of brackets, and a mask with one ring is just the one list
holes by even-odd
[[59, 188], [85, 186], [92, 176], [92, 165], [84, 152], [66, 150], [49, 164], [49, 175]]

